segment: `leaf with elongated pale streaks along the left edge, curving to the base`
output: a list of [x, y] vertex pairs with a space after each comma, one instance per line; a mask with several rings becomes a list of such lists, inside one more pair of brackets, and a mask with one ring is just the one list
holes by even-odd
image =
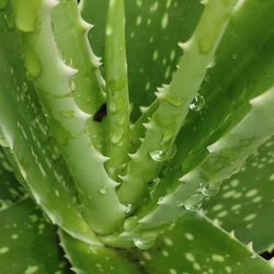
[[4, 23], [7, 16], [13, 20], [9, 3], [0, 18], [1, 145], [13, 161], [15, 173], [52, 221], [82, 240], [94, 242], [93, 233], [80, 216], [70, 173], [48, 133], [33, 85], [25, 79], [14, 22], [10, 28]]

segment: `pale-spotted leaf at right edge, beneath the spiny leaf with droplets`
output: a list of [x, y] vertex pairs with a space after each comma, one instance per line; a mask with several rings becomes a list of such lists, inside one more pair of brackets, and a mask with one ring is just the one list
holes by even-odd
[[271, 138], [203, 206], [207, 216], [218, 219], [226, 230], [235, 230], [241, 241], [253, 242], [256, 251], [274, 246], [273, 151]]

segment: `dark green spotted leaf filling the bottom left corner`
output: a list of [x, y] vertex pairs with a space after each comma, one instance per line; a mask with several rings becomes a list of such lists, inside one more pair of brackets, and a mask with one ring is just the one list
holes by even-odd
[[67, 274], [69, 264], [58, 247], [56, 229], [45, 221], [31, 199], [0, 212], [2, 274]]

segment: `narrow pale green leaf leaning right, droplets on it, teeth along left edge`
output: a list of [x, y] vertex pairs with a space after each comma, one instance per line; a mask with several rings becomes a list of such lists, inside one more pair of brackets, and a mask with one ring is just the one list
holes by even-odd
[[132, 156], [118, 190], [122, 202], [136, 204], [144, 196], [146, 183], [157, 175], [163, 161], [172, 157], [174, 139], [213, 61], [235, 4], [236, 1], [205, 3], [193, 36], [182, 46], [184, 55], [178, 71], [170, 85], [157, 93], [159, 105], [145, 125], [144, 140]]

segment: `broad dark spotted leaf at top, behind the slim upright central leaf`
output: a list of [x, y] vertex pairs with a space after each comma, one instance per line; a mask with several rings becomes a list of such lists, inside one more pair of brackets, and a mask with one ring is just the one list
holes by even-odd
[[[90, 42], [100, 56], [104, 53], [107, 3], [107, 0], [85, 0], [82, 9], [84, 19], [94, 24]], [[191, 36], [203, 5], [198, 0], [125, 1], [125, 10], [129, 92], [135, 119], [139, 106], [155, 99], [156, 88], [170, 81], [182, 54], [178, 43]]]

